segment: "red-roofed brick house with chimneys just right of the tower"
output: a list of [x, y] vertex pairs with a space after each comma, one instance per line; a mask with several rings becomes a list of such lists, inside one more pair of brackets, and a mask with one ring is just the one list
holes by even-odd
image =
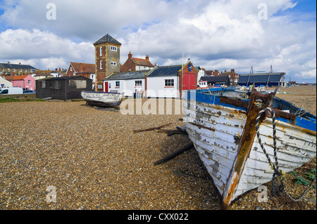
[[140, 70], [151, 70], [154, 65], [149, 61], [149, 55], [143, 58], [132, 58], [132, 53], [128, 53], [128, 59], [121, 66], [120, 72], [140, 71]]

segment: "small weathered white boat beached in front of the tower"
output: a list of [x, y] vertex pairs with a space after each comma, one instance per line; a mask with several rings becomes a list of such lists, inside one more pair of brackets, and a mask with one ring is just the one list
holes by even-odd
[[89, 92], [82, 91], [82, 98], [87, 104], [97, 107], [118, 107], [123, 98], [123, 93]]

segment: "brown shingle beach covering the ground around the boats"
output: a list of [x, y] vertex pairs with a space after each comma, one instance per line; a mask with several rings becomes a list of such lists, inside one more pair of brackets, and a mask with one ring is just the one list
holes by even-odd
[[[315, 105], [301, 107], [316, 114], [316, 93], [311, 94]], [[143, 104], [147, 100], [156, 102], [143, 99]], [[175, 130], [184, 126], [181, 113], [122, 114], [96, 110], [85, 101], [1, 103], [0, 110], [1, 210], [220, 209], [194, 149], [154, 166], [187, 145], [187, 136], [133, 132], [170, 123], [164, 129]], [[313, 189], [296, 204], [286, 197], [259, 203], [256, 194], [230, 209], [316, 209]]]

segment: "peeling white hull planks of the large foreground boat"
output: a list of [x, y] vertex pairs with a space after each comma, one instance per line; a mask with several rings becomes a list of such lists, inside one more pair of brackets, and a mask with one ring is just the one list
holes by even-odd
[[[237, 178], [235, 163], [239, 154], [240, 139], [247, 121], [247, 112], [233, 107], [191, 100], [190, 107], [183, 100], [184, 114], [192, 114], [185, 126], [201, 161], [209, 171], [220, 195], [228, 195], [230, 183]], [[273, 124], [265, 119], [259, 132], [266, 151], [273, 159]], [[276, 123], [276, 139], [280, 169], [290, 172], [316, 156], [316, 131], [282, 121]], [[230, 196], [230, 202], [244, 192], [253, 190], [272, 180], [273, 169], [263, 153], [258, 139], [254, 142]], [[229, 203], [230, 203], [229, 202]]]

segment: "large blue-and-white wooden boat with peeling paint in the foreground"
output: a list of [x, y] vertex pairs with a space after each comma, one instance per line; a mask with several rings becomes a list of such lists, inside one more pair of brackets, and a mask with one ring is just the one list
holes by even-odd
[[287, 173], [316, 156], [316, 116], [275, 98], [275, 92], [211, 88], [184, 93], [187, 133], [221, 195], [223, 209], [270, 182], [275, 159], [278, 169]]

